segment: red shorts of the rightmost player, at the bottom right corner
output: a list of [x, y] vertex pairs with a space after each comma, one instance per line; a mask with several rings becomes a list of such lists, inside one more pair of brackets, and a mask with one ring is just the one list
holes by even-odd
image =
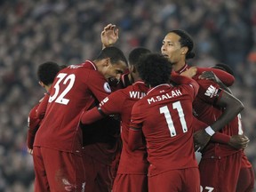
[[254, 170], [250, 168], [241, 168], [238, 182], [236, 185], [236, 192], [252, 192], [254, 188]]

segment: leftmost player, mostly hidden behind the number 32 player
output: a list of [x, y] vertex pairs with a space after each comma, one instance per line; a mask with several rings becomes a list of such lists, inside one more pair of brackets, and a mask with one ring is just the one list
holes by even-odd
[[[49, 94], [49, 89], [53, 83], [53, 80], [57, 73], [60, 71], [60, 66], [52, 61], [44, 62], [39, 65], [37, 69], [37, 77], [39, 84], [44, 87], [46, 94]], [[40, 100], [41, 101], [41, 100]], [[41, 124], [42, 119], [37, 118], [36, 110], [40, 104], [40, 101], [32, 108], [28, 115], [28, 135], [27, 135], [27, 147], [28, 153], [33, 154], [33, 144], [36, 136], [36, 131]]]

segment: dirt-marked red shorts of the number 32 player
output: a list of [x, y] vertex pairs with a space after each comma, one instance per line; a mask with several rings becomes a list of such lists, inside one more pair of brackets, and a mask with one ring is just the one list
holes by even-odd
[[85, 187], [83, 158], [51, 148], [33, 148], [35, 191], [82, 191]]

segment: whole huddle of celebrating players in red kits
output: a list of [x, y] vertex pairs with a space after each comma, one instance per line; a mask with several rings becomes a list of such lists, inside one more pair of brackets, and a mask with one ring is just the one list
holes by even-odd
[[252, 191], [232, 69], [189, 67], [194, 43], [180, 29], [161, 54], [136, 47], [128, 61], [118, 36], [108, 24], [95, 60], [39, 66], [46, 93], [29, 113], [27, 139], [35, 191]]

